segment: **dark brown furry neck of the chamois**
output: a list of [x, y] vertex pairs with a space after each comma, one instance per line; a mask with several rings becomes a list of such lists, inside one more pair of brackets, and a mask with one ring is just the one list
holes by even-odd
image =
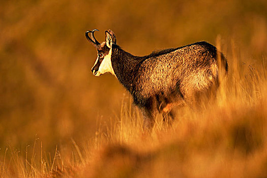
[[124, 51], [117, 45], [112, 45], [111, 65], [117, 79], [132, 93], [134, 77], [138, 70], [138, 57]]

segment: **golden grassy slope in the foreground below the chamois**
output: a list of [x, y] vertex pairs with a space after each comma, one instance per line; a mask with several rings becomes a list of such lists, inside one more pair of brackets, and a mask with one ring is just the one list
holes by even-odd
[[79, 144], [71, 139], [54, 153], [38, 139], [24, 153], [7, 147], [0, 177], [266, 177], [264, 56], [250, 64], [231, 46], [229, 74], [216, 98], [200, 109], [177, 108], [171, 126], [159, 115], [152, 133], [144, 134], [127, 95], [119, 114], [100, 117], [95, 136]]

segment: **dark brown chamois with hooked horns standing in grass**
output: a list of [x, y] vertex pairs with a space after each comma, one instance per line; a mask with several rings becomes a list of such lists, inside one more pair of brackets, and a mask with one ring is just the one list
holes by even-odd
[[98, 52], [92, 72], [95, 76], [109, 72], [122, 83], [134, 104], [142, 110], [146, 131], [153, 128], [158, 112], [164, 114], [163, 118], [173, 118], [174, 105], [190, 103], [195, 96], [217, 88], [219, 75], [226, 75], [228, 71], [224, 55], [204, 41], [134, 56], [116, 44], [110, 29], [105, 31], [103, 43], [96, 40], [96, 31], [98, 29], [85, 33]]

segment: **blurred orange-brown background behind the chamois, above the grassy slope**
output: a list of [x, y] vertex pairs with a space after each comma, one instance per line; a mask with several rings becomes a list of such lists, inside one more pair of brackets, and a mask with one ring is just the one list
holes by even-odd
[[[267, 54], [267, 1], [1, 1], [0, 151], [35, 139], [47, 151], [90, 138], [129, 97], [110, 74], [94, 77], [98, 41], [112, 29], [134, 55], [197, 41], [235, 43], [251, 63]], [[258, 61], [257, 61], [258, 60]], [[129, 98], [128, 98], [129, 100]]]

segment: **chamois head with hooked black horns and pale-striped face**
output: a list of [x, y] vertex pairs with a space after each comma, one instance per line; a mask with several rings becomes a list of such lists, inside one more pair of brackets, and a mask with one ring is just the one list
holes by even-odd
[[[85, 32], [86, 39], [97, 48], [98, 52], [97, 60], [92, 68], [92, 72], [95, 76], [100, 76], [107, 72], [115, 75], [111, 65], [112, 43], [116, 44], [115, 34], [109, 29], [105, 32], [106, 41], [100, 44], [94, 36], [96, 31], [99, 30], [94, 29], [93, 31]], [[91, 38], [88, 36], [88, 33], [91, 33]]]

